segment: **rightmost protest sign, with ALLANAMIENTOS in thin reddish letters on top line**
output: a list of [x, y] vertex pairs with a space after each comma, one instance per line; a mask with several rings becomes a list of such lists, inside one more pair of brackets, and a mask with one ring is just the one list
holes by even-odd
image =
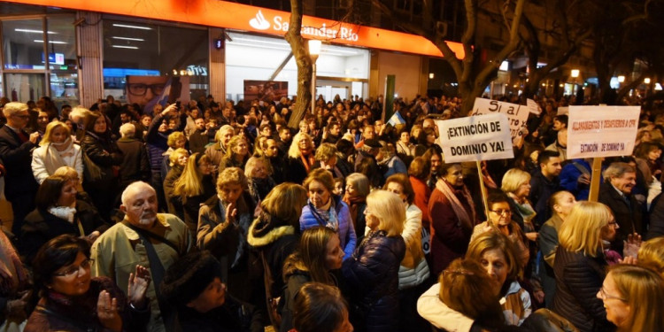
[[631, 155], [640, 112], [639, 106], [569, 106], [567, 158]]

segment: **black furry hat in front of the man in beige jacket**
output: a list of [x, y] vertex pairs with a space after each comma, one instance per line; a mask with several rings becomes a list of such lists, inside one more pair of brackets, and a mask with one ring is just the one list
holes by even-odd
[[161, 293], [171, 304], [184, 306], [196, 299], [214, 278], [221, 278], [219, 260], [210, 251], [191, 252], [168, 267]]

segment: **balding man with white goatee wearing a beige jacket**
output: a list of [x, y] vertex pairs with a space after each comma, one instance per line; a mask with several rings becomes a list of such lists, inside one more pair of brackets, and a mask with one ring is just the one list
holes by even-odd
[[157, 193], [149, 184], [130, 184], [121, 199], [125, 219], [92, 245], [92, 274], [108, 276], [126, 290], [135, 266], [150, 266], [153, 282], [147, 291], [151, 298], [148, 330], [174, 331], [174, 311], [158, 290], [166, 269], [193, 247], [193, 237], [184, 221], [173, 214], [158, 213]]

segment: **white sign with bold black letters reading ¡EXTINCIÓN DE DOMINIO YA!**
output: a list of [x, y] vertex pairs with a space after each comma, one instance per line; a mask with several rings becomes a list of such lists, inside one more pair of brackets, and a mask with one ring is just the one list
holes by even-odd
[[513, 158], [509, 120], [503, 113], [437, 120], [445, 163]]

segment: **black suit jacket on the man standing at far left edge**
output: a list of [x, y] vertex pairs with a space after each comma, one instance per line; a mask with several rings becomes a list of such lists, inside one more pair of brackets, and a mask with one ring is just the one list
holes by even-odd
[[12, 128], [0, 127], [0, 158], [7, 175], [4, 177], [4, 195], [10, 200], [37, 192], [39, 185], [35, 181], [31, 166], [32, 151], [36, 147], [37, 145], [30, 141], [21, 142]]

